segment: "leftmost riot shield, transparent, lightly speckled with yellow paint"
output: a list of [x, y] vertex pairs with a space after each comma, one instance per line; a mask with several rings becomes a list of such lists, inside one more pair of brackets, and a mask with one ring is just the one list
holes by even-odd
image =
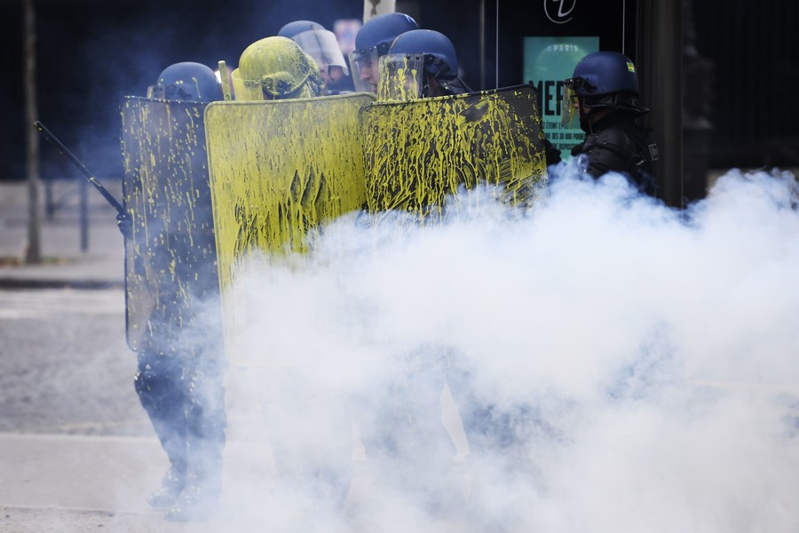
[[[126, 97], [120, 105], [127, 340], [132, 350], [192, 355], [213, 335], [216, 249], [201, 102]], [[218, 305], [217, 305], [218, 307]], [[218, 332], [221, 336], [221, 331]], [[221, 338], [218, 339], [221, 342]]]

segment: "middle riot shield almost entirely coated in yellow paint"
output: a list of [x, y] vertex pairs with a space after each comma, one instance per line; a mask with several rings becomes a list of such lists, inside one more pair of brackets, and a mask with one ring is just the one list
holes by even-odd
[[225, 346], [247, 362], [249, 259], [302, 254], [325, 221], [366, 207], [358, 111], [367, 93], [213, 102], [205, 112]]

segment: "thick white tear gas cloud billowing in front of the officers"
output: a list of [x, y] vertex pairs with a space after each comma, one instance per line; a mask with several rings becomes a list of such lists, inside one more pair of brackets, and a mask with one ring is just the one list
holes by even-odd
[[[486, 200], [446, 224], [371, 229], [345, 217], [302, 267], [254, 261], [233, 289], [248, 313], [228, 388], [251, 379], [245, 403], [296, 468], [270, 495], [229, 479], [249, 509], [238, 520], [795, 531], [796, 202], [789, 173], [730, 171], [676, 211], [564, 163], [529, 211]], [[439, 402], [442, 374], [461, 377], [454, 402]], [[464, 396], [511, 438], [464, 443], [463, 427], [480, 435], [480, 418], [452, 423], [452, 405], [475, 404]], [[442, 405], [450, 442], [424, 431]], [[398, 432], [399, 463], [379, 450]], [[444, 472], [431, 457], [455, 461]], [[347, 473], [345, 518], [308, 508]]]

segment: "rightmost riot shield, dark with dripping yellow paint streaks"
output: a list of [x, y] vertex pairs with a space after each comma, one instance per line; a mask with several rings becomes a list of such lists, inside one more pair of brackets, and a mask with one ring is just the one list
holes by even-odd
[[390, 211], [418, 222], [446, 217], [445, 201], [490, 187], [533, 203], [547, 180], [541, 117], [529, 85], [454, 96], [379, 101], [360, 111], [373, 223]]

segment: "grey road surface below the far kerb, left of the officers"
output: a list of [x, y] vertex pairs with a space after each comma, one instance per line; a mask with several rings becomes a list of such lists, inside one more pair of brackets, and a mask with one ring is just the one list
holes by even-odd
[[[146, 505], [167, 463], [133, 390], [123, 290], [0, 290], [0, 337], [0, 531], [216, 529]], [[257, 405], [237, 402], [239, 371], [225, 452], [236, 492], [273, 479]]]

